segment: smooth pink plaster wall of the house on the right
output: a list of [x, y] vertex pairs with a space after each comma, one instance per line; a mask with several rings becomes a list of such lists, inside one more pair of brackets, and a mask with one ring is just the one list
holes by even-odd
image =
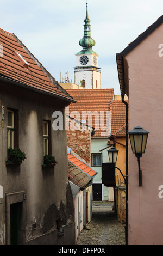
[[159, 56], [162, 35], [160, 25], [124, 57], [129, 78], [128, 130], [139, 125], [150, 132], [146, 152], [140, 159], [142, 187], [137, 159], [129, 143], [129, 245], [163, 245], [163, 198], [159, 190], [160, 185], [163, 187], [163, 57]]

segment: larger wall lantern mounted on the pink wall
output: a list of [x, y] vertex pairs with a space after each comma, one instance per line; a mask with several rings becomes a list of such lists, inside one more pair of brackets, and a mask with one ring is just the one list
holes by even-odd
[[141, 126], [136, 126], [133, 130], [128, 132], [131, 148], [137, 157], [139, 167], [139, 186], [142, 186], [142, 171], [140, 169], [140, 157], [145, 153], [148, 134], [150, 132], [143, 130]]

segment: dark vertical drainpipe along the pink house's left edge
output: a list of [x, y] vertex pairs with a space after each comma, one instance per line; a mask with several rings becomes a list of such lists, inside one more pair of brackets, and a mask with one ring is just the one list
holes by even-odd
[[126, 245], [128, 245], [128, 103], [124, 101], [124, 95], [122, 95], [122, 102], [126, 105]]

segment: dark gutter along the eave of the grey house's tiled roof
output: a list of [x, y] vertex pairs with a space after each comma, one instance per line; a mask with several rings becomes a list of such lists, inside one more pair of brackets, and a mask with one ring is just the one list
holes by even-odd
[[76, 103], [76, 101], [71, 99], [71, 98], [60, 96], [56, 93], [47, 92], [46, 90], [37, 89], [35, 87], [29, 86], [28, 84], [13, 80], [13, 79], [8, 78], [8, 77], [0, 76], [0, 80], [4, 81], [4, 82], [7, 82], [7, 83], [15, 84], [16, 86], [22, 87], [24, 89], [32, 90], [35, 93], [39, 93], [39, 94], [43, 94], [43, 95], [47, 95], [47, 96], [51, 96], [51, 97], [57, 97], [60, 100]]

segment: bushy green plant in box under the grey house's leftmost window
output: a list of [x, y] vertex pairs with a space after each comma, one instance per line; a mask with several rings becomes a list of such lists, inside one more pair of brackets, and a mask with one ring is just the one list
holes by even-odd
[[8, 160], [14, 162], [22, 162], [26, 159], [26, 153], [22, 152], [19, 148], [8, 149]]

